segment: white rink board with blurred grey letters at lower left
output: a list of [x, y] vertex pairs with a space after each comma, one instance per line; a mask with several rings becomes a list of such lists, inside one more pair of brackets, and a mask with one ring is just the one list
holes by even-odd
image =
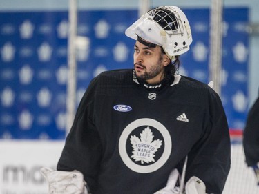
[[64, 141], [0, 141], [0, 194], [47, 194], [41, 167], [55, 169]]

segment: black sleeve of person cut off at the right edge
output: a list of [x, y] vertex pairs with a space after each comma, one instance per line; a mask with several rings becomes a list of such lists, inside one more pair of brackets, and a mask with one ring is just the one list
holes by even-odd
[[259, 162], [259, 97], [247, 116], [243, 146], [247, 165], [256, 165]]

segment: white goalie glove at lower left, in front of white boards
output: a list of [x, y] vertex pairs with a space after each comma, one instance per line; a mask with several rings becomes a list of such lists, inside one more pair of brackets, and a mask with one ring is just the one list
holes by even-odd
[[90, 194], [84, 175], [79, 171], [53, 171], [50, 168], [41, 168], [40, 171], [48, 182], [49, 194]]

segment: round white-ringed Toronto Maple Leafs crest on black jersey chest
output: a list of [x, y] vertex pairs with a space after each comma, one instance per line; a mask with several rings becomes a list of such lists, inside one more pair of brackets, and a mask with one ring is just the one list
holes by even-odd
[[172, 151], [169, 130], [155, 119], [136, 119], [119, 137], [122, 162], [137, 173], [151, 173], [164, 166]]

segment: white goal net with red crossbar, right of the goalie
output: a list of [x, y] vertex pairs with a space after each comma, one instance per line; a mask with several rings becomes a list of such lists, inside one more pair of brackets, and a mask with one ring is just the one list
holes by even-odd
[[230, 130], [231, 168], [222, 194], [258, 194], [256, 175], [247, 167], [242, 146], [242, 131]]

